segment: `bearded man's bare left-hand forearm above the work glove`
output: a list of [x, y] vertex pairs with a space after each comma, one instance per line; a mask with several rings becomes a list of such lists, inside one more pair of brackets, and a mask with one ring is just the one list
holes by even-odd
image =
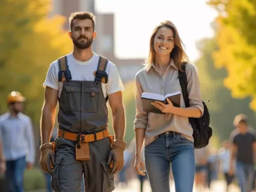
[[44, 106], [42, 110], [42, 118], [41, 118], [41, 141], [42, 144], [50, 143], [52, 129], [55, 122], [56, 108], [51, 109], [47, 106]]

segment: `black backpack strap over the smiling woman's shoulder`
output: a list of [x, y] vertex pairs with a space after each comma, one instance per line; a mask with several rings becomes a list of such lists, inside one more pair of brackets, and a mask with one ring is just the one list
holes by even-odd
[[189, 99], [188, 99], [188, 81], [187, 81], [187, 76], [186, 76], [186, 63], [183, 63], [182, 65], [182, 70], [179, 70], [179, 81], [180, 81], [180, 87], [183, 95], [183, 99], [186, 105], [186, 108], [189, 108]]

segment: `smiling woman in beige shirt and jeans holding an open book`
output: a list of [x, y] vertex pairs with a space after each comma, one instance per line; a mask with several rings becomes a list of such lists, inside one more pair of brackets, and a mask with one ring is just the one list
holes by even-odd
[[[179, 70], [182, 62], [188, 61], [182, 49], [182, 41], [172, 22], [161, 22], [150, 38], [150, 52], [145, 68], [136, 74], [134, 91], [136, 98], [136, 162], [134, 168], [148, 179], [152, 191], [170, 191], [170, 163], [177, 192], [193, 191], [195, 157], [193, 129], [188, 117], [198, 118], [204, 113], [200, 86], [195, 67], [186, 63], [188, 79], [189, 108], [185, 108], [182, 94], [180, 108], [168, 104], [152, 102], [154, 107], [164, 112], [147, 113], [143, 111], [141, 95], [143, 92], [167, 93], [181, 92]], [[145, 166], [141, 148], [145, 144]], [[141, 169], [142, 168], [142, 171]]]

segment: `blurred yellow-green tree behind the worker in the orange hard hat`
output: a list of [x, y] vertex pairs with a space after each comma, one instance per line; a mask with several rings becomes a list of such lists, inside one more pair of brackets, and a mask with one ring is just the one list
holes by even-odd
[[[27, 98], [26, 114], [38, 125], [44, 101], [42, 84], [47, 69], [52, 61], [72, 50], [72, 41], [62, 29], [64, 17], [47, 18], [49, 1], [6, 2], [8, 12], [4, 11], [4, 17], [10, 17], [9, 22], [14, 24], [1, 26], [1, 33], [13, 38], [12, 45], [9, 45], [9, 38], [1, 36], [1, 44], [4, 47], [0, 51], [1, 112], [7, 109], [7, 94], [17, 90]], [[17, 10], [22, 10], [22, 13]], [[26, 22], [19, 22], [20, 17]], [[21, 33], [19, 28], [22, 29]], [[4, 51], [5, 47], [8, 51]]]

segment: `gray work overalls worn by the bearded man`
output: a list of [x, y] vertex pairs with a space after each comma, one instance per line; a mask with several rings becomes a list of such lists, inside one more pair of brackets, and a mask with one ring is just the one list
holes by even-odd
[[[97, 72], [100, 60], [102, 57], [99, 59]], [[107, 65], [108, 60], [105, 61]], [[101, 77], [96, 76], [95, 81], [72, 81], [67, 57], [60, 58], [58, 62], [59, 81], [63, 81], [63, 77], [66, 80], [63, 81], [59, 99], [59, 129], [77, 134], [91, 134], [107, 129], [108, 108], [102, 92]], [[65, 70], [63, 67], [61, 70], [61, 62], [65, 63]], [[52, 173], [54, 191], [81, 191], [83, 173], [86, 192], [113, 191], [114, 176], [106, 165], [110, 150], [109, 138], [93, 141], [90, 143], [90, 160], [76, 161], [76, 141], [56, 138], [55, 166]]]

